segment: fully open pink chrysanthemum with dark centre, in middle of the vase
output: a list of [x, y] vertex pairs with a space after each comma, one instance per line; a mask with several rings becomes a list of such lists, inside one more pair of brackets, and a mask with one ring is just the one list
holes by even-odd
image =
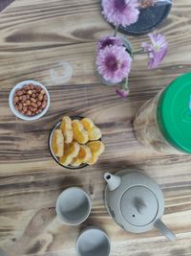
[[131, 69], [132, 58], [121, 46], [110, 46], [100, 50], [96, 57], [98, 73], [105, 81], [117, 83], [126, 78]]

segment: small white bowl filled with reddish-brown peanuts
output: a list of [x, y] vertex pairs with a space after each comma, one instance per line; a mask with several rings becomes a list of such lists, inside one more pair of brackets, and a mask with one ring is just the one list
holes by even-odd
[[50, 94], [38, 81], [21, 81], [11, 89], [9, 104], [15, 116], [32, 121], [47, 112], [50, 106]]

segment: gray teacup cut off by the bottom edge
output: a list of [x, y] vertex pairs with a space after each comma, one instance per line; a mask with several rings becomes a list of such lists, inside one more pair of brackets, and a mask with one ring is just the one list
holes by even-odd
[[109, 256], [110, 240], [107, 234], [96, 226], [81, 232], [76, 242], [77, 256]]

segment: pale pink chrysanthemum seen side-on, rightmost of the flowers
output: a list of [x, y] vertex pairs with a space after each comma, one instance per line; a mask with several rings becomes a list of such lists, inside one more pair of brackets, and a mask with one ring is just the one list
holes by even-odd
[[149, 62], [148, 68], [156, 68], [159, 66], [161, 60], [166, 56], [168, 52], [168, 42], [164, 35], [161, 34], [149, 34], [151, 43], [143, 42], [141, 44], [145, 53], [148, 53]]

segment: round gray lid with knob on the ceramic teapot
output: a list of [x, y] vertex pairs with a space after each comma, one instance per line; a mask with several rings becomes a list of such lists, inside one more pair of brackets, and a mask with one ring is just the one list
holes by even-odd
[[136, 185], [127, 189], [120, 199], [123, 218], [135, 226], [148, 225], [159, 212], [159, 201], [146, 186]]

